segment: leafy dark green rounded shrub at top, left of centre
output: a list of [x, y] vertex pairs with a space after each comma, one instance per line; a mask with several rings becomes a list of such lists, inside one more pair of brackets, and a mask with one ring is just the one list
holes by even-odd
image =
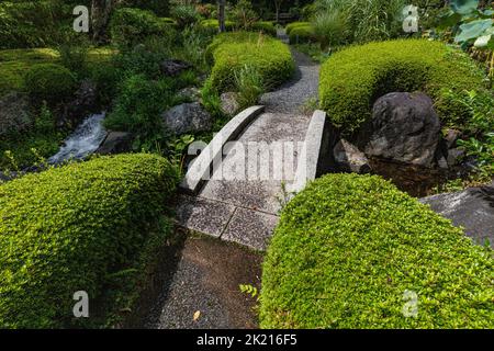
[[113, 12], [110, 21], [112, 42], [122, 47], [132, 47], [153, 35], [165, 35], [172, 26], [150, 11], [122, 8]]

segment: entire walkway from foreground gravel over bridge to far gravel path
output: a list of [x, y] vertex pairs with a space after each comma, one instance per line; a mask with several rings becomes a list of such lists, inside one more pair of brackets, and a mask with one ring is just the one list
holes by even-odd
[[[247, 150], [249, 143], [285, 143], [280, 165], [266, 168], [276, 180], [249, 180], [248, 161], [228, 154], [222, 169], [240, 166], [245, 180], [210, 180], [195, 196], [177, 199], [180, 227], [206, 237], [181, 236], [182, 244], [159, 271], [171, 272], [158, 282], [159, 296], [148, 298], [151, 308], [142, 326], [147, 328], [256, 328], [255, 298], [243, 294], [239, 284], [260, 286], [260, 265], [283, 197], [282, 181], [290, 184], [297, 163], [299, 148], [305, 139], [311, 112], [302, 112], [308, 99], [317, 99], [318, 69], [311, 59], [293, 50], [296, 72], [280, 89], [261, 97], [266, 112], [254, 120], [238, 136]], [[288, 145], [288, 148], [284, 148]], [[293, 146], [290, 147], [290, 145]], [[247, 151], [248, 152], [248, 151]], [[272, 160], [273, 154], [257, 154], [256, 163]], [[257, 157], [259, 157], [257, 159]], [[256, 165], [256, 166], [258, 166]], [[288, 167], [290, 166], [290, 167]], [[261, 172], [262, 170], [259, 169]], [[238, 173], [237, 173], [238, 174]], [[242, 177], [240, 177], [242, 178]], [[182, 229], [180, 229], [182, 230]], [[232, 245], [234, 241], [238, 245]], [[254, 250], [246, 250], [248, 247]]]

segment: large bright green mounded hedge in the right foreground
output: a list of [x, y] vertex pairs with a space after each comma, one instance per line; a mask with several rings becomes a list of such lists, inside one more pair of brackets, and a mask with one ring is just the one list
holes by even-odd
[[[283, 210], [262, 328], [493, 328], [492, 250], [377, 176], [328, 174]], [[411, 297], [417, 294], [416, 317]], [[408, 305], [405, 305], [408, 304]]]

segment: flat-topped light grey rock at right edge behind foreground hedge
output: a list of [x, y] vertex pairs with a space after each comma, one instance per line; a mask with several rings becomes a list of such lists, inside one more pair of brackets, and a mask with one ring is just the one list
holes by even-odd
[[460, 192], [433, 195], [419, 200], [430, 208], [464, 228], [476, 244], [489, 240], [494, 248], [494, 182]]

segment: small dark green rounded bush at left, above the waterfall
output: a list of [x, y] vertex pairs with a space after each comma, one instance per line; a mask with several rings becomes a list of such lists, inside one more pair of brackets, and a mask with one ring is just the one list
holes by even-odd
[[38, 101], [57, 102], [69, 98], [76, 90], [75, 76], [64, 66], [38, 64], [31, 67], [24, 77], [29, 94]]

